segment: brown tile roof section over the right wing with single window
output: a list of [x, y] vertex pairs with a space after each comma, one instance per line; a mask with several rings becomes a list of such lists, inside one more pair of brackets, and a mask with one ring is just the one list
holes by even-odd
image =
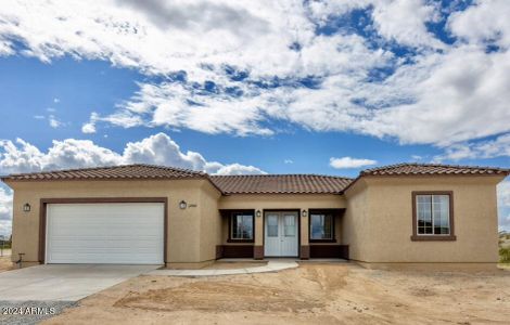
[[438, 164], [398, 164], [366, 169], [362, 176], [420, 176], [420, 174], [501, 174], [510, 173], [509, 169], [479, 166], [455, 166]]

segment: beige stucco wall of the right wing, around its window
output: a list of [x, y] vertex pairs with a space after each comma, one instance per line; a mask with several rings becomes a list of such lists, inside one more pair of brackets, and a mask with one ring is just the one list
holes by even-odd
[[[343, 240], [365, 262], [496, 262], [501, 177], [368, 177], [347, 191]], [[455, 242], [412, 242], [412, 191], [452, 191]]]

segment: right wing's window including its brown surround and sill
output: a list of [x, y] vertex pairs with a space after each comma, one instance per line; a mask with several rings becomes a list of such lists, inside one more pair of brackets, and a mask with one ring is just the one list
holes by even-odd
[[451, 192], [413, 192], [415, 240], [455, 240]]

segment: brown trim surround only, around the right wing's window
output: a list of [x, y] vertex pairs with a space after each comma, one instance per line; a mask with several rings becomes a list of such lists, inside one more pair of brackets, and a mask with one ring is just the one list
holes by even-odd
[[[447, 195], [448, 196], [448, 211], [449, 211], [449, 234], [418, 234], [418, 195]], [[428, 242], [428, 240], [457, 240], [454, 226], [454, 192], [452, 191], [413, 191], [412, 196], [412, 242]]]

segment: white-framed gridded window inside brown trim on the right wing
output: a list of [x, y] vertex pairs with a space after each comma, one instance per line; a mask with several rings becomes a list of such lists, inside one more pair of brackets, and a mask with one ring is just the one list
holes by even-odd
[[450, 194], [417, 194], [416, 234], [451, 235]]

